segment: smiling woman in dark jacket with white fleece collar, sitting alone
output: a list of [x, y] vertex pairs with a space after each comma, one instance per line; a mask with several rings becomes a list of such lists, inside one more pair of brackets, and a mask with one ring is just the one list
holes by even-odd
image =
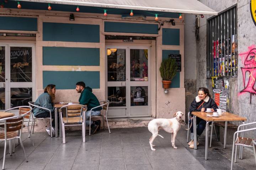
[[[211, 98], [209, 94], [209, 90], [205, 87], [200, 87], [198, 89], [198, 96], [193, 100], [193, 102], [190, 105], [190, 116], [192, 112], [204, 112], [207, 108], [211, 108], [212, 112], [217, 111], [217, 104], [214, 102], [214, 100]], [[203, 133], [205, 127], [206, 127], [206, 121], [201, 118], [196, 118], [197, 122], [197, 138]], [[190, 138], [191, 141], [188, 142], [188, 145], [190, 148], [194, 148], [194, 134], [193, 134], [193, 121], [190, 119], [189, 123], [192, 123], [192, 126], [190, 128]], [[199, 142], [197, 140], [197, 145], [199, 145]]]

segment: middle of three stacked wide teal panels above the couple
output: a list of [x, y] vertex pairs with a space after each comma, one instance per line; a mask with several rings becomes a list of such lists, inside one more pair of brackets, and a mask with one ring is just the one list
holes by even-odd
[[43, 47], [43, 65], [100, 66], [100, 49]]

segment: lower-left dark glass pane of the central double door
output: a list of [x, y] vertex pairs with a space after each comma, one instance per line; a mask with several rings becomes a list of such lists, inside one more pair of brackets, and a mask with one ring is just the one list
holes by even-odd
[[109, 106], [126, 106], [126, 87], [108, 87]]

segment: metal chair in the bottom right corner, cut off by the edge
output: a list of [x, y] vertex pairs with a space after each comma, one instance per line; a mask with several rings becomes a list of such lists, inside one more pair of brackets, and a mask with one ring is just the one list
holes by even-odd
[[[244, 129], [245, 126], [253, 125], [253, 124], [256, 124], [256, 122], [239, 125], [238, 126], [238, 130], [234, 133], [233, 147], [232, 147], [232, 158], [231, 158], [231, 170], [233, 170], [233, 164], [236, 163], [236, 150], [237, 150], [237, 146], [240, 146], [240, 149], [239, 149], [239, 159], [242, 159], [243, 147], [244, 146], [246, 146], [246, 147], [254, 147], [253, 146], [253, 140], [255, 140], [255, 139], [250, 139], [250, 138], [244, 137], [244, 132], [256, 130], [256, 128]], [[241, 134], [239, 135], [239, 133], [241, 133]], [[233, 158], [234, 158], [234, 149], [235, 149], [235, 160], [233, 160]]]

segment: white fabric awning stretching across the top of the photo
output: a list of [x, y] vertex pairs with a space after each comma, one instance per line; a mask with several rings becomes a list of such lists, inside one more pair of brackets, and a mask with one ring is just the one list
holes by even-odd
[[52, 4], [122, 8], [131, 10], [218, 15], [198, 0], [22, 0]]

